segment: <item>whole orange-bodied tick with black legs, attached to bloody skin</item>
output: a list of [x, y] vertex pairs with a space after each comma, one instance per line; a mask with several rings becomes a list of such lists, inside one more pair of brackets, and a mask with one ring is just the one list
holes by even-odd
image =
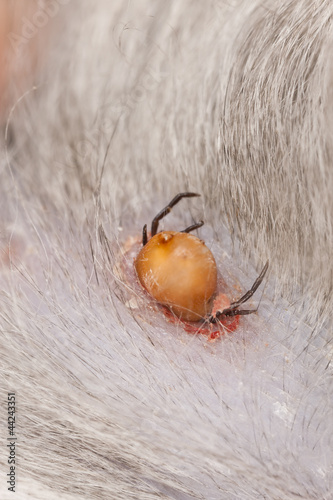
[[235, 302], [225, 294], [216, 295], [217, 267], [214, 256], [205, 243], [190, 234], [204, 222], [197, 222], [183, 231], [158, 232], [158, 224], [182, 199], [200, 196], [179, 193], [152, 220], [148, 240], [147, 225], [143, 226], [142, 249], [135, 259], [138, 279], [147, 292], [183, 321], [223, 322], [233, 316], [251, 314], [257, 309], [239, 309], [260, 286], [268, 261], [252, 288]]

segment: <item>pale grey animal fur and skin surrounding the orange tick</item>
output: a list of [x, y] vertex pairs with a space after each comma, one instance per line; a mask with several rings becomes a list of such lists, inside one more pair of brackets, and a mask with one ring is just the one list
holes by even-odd
[[[332, 499], [332, 4], [63, 4], [4, 123], [15, 498]], [[203, 217], [230, 293], [270, 259], [259, 314], [215, 343], [121, 257], [188, 189], [162, 227]]]

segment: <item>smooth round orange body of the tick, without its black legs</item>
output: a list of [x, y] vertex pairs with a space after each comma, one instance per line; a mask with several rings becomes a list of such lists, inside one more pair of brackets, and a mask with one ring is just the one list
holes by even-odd
[[178, 317], [199, 321], [212, 308], [217, 270], [205, 243], [188, 233], [162, 231], [135, 260], [142, 286]]

